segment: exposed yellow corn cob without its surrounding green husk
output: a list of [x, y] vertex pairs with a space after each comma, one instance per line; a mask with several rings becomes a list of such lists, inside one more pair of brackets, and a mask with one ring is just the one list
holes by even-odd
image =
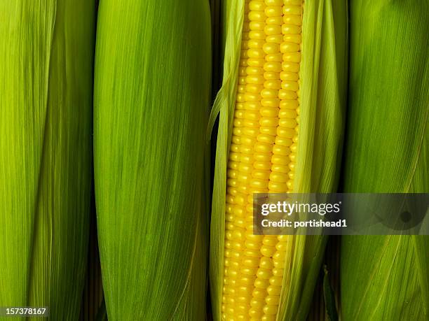
[[253, 193], [292, 192], [302, 0], [246, 1], [229, 153], [222, 318], [275, 320], [293, 236], [253, 235]]

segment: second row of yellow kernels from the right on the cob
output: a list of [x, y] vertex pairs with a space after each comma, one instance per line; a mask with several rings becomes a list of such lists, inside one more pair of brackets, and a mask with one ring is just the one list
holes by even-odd
[[[282, 0], [266, 0], [264, 12], [266, 13], [264, 34], [266, 41], [262, 46], [265, 55], [264, 62], [264, 89], [261, 91], [261, 106], [259, 120], [260, 129], [255, 150], [258, 159], [255, 159], [252, 183], [254, 188], [268, 192], [268, 178], [271, 170], [272, 148], [275, 141], [275, 131], [278, 125], [281, 68], [281, 24]], [[260, 245], [261, 258], [257, 264], [257, 278], [252, 292], [250, 317], [257, 320], [269, 320], [266, 308], [268, 279], [272, 272], [272, 256], [276, 243], [274, 236], [264, 236]], [[269, 311], [268, 311], [269, 312]]]

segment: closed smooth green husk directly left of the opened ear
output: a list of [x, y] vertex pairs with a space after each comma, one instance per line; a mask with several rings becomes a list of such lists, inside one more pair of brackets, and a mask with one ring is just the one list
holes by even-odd
[[109, 320], [204, 320], [208, 1], [100, 2], [95, 187]]

